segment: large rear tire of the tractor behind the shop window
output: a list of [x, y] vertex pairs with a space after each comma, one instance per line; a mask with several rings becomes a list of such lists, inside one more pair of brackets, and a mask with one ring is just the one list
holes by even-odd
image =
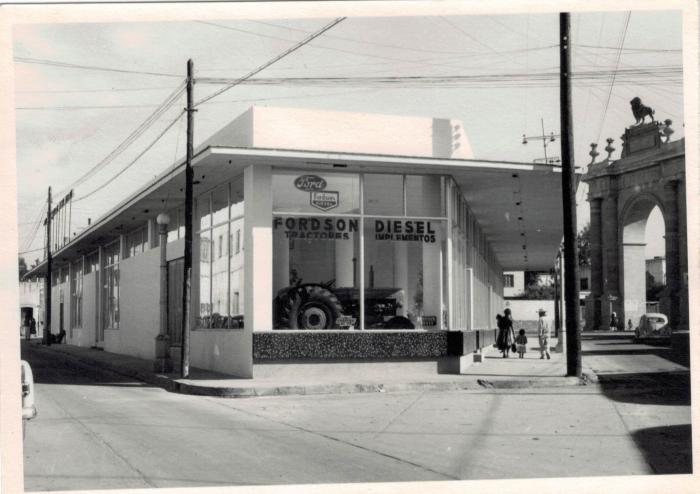
[[343, 312], [333, 292], [319, 285], [288, 291], [279, 301], [279, 325], [288, 329], [331, 329]]

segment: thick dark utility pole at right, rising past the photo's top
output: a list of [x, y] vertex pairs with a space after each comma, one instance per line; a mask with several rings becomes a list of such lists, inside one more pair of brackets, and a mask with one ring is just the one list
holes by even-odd
[[564, 305], [566, 312], [566, 374], [581, 377], [579, 330], [578, 246], [576, 245], [576, 174], [571, 111], [571, 18], [559, 14], [559, 91], [561, 111], [561, 192], [564, 207]]

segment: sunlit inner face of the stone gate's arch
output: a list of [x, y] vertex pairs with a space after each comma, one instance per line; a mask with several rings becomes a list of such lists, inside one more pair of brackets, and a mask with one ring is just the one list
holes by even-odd
[[663, 200], [656, 194], [644, 192], [626, 201], [620, 215], [620, 285], [622, 314], [620, 323], [628, 320], [635, 325], [646, 312], [646, 227], [652, 210], [658, 207], [664, 218], [666, 215]]

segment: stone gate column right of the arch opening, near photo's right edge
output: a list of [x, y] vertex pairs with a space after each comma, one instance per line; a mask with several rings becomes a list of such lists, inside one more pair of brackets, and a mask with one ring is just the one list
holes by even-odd
[[672, 330], [680, 327], [680, 245], [678, 235], [678, 181], [664, 184], [664, 213], [666, 220], [666, 297], [668, 322]]

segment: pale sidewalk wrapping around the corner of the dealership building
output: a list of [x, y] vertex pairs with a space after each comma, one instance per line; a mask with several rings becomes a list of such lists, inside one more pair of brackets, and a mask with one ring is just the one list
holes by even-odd
[[[22, 342], [26, 345], [27, 342]], [[171, 392], [228, 398], [310, 395], [331, 393], [392, 392], [412, 390], [478, 390], [485, 388], [536, 388], [596, 383], [597, 377], [584, 365], [583, 377], [566, 376], [566, 359], [551, 353], [541, 360], [539, 350], [529, 346], [524, 359], [502, 358], [488, 349], [483, 362], [467, 367], [462, 374], [440, 374], [436, 361], [344, 362], [256, 364], [252, 379], [242, 379], [191, 368], [190, 376], [158, 374], [151, 360], [67, 344], [46, 347], [38, 340], [28, 343], [32, 351], [55, 352], [79, 364], [98, 367], [131, 377]], [[556, 339], [552, 348], [556, 346]], [[471, 356], [467, 357], [471, 358]]]

